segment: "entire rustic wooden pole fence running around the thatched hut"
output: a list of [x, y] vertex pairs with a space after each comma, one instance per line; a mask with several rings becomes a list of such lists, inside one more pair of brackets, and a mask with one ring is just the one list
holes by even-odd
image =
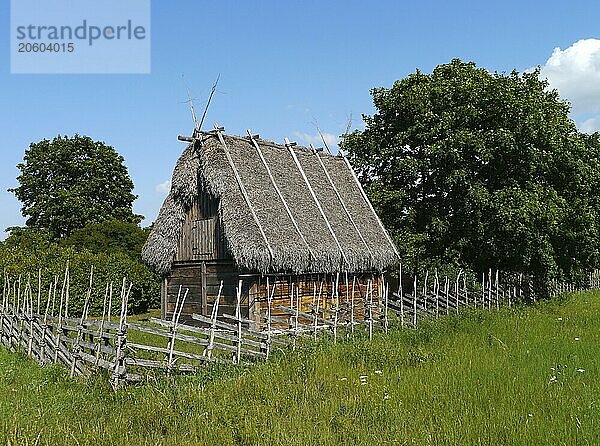
[[[92, 280], [93, 269], [83, 312], [75, 318], [68, 313], [68, 267], [60, 292], [58, 278], [49, 285], [47, 293], [42, 292], [41, 282], [34, 293], [29, 279], [11, 280], [5, 274], [0, 343], [12, 351], [26, 353], [40, 364], [63, 364], [71, 376], [103, 370], [118, 387], [157, 373], [194, 372], [211, 362], [266, 360], [274, 347], [295, 348], [299, 338], [316, 338], [319, 333], [329, 333], [335, 342], [340, 335], [351, 336], [358, 329], [371, 338], [376, 331], [387, 332], [392, 324], [416, 327], [422, 318], [456, 314], [468, 307], [493, 310], [535, 299], [531, 280], [523, 275], [490, 270], [480, 281], [469, 281], [462, 272], [453, 278], [427, 273], [420, 280], [414, 277], [409, 284], [399, 280], [394, 291], [390, 290], [390, 283], [384, 282], [382, 292], [367, 284], [364, 293], [353, 290], [342, 295], [335, 289], [326, 295], [315, 293], [308, 305], [301, 299], [294, 300], [292, 288], [289, 305], [279, 303], [274, 308], [270, 294], [266, 311], [245, 319], [240, 311], [240, 280], [233, 315], [217, 317], [220, 299], [216, 299], [210, 316], [192, 315], [197, 325], [180, 323], [188, 293], [180, 287], [170, 320], [151, 318], [134, 323], [127, 320], [132, 284], [126, 279], [118, 296], [113, 293], [112, 284], [106, 286], [101, 317], [88, 316]], [[591, 273], [580, 286], [549, 284], [551, 295], [581, 288], [600, 288], [600, 274]]]

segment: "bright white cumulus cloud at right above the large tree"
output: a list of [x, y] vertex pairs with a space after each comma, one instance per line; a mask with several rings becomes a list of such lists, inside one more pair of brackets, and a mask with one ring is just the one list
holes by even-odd
[[555, 48], [540, 75], [571, 103], [574, 114], [600, 112], [599, 39], [579, 40], [564, 50]]

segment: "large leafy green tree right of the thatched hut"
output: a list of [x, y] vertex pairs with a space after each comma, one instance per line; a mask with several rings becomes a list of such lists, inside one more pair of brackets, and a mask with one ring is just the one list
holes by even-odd
[[540, 283], [597, 265], [600, 144], [538, 71], [453, 60], [371, 93], [342, 148], [406, 258]]

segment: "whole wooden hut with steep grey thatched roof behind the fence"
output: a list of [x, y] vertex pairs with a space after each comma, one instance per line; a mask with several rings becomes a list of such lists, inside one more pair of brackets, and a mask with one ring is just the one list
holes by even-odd
[[210, 314], [221, 283], [219, 313], [233, 314], [241, 283], [252, 320], [269, 293], [310, 306], [317, 292], [347, 296], [349, 281], [381, 292], [398, 254], [344, 157], [218, 128], [194, 135], [142, 254], [164, 277], [163, 317], [180, 286], [182, 319]]

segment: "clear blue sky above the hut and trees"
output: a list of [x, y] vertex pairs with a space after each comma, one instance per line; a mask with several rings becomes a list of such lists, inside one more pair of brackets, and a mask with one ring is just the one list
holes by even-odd
[[540, 65], [580, 128], [600, 129], [597, 1], [153, 0], [151, 15], [150, 74], [10, 74], [10, 2], [0, 0], [0, 229], [24, 223], [6, 190], [24, 150], [75, 133], [124, 156], [135, 211], [150, 224], [184, 148], [177, 135], [193, 127], [182, 75], [201, 109], [220, 74], [208, 126], [306, 144], [315, 123], [332, 142], [350, 113], [361, 127], [369, 90], [417, 68], [453, 58], [490, 71]]

